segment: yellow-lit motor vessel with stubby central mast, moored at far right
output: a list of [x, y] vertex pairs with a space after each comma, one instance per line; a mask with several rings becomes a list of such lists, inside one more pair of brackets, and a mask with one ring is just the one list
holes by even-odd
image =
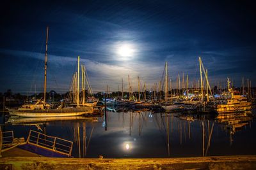
[[234, 94], [234, 91], [230, 89], [230, 81], [228, 79], [228, 92], [230, 97], [228, 99], [219, 102], [214, 110], [217, 113], [230, 113], [239, 111], [248, 111], [252, 108], [252, 102], [249, 102], [246, 97]]

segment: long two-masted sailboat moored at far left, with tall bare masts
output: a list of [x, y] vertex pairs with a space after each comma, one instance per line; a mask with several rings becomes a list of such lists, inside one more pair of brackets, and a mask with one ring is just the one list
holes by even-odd
[[[44, 69], [44, 100], [40, 99], [35, 104], [24, 104], [18, 109], [7, 108], [10, 115], [19, 117], [74, 117], [81, 116], [88, 113], [93, 113], [92, 106], [80, 107], [77, 103], [76, 107], [59, 107], [52, 109], [49, 104], [45, 102], [46, 98], [46, 80], [47, 80], [47, 48], [48, 48], [48, 32], [46, 31], [46, 45], [45, 45], [45, 69]], [[79, 58], [79, 57], [78, 57]], [[77, 82], [79, 82], [79, 62], [77, 68]], [[77, 101], [79, 101], [79, 83], [77, 83]]]

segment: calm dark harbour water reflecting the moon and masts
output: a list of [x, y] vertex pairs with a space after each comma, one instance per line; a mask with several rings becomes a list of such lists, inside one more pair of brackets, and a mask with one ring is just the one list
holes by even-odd
[[[255, 113], [253, 110], [253, 115]], [[3, 124], [3, 117], [1, 121]], [[81, 157], [200, 157], [252, 155], [256, 151], [255, 119], [243, 114], [217, 120], [180, 113], [108, 111], [107, 123], [106, 128], [104, 117], [99, 117], [98, 122], [48, 121], [39, 124], [42, 131], [34, 124], [9, 124], [2, 128], [3, 131], [13, 131], [15, 138], [28, 138], [31, 129], [74, 141], [73, 157], [79, 157], [77, 127], [80, 131]], [[83, 127], [86, 129], [86, 154], [83, 152]]]

